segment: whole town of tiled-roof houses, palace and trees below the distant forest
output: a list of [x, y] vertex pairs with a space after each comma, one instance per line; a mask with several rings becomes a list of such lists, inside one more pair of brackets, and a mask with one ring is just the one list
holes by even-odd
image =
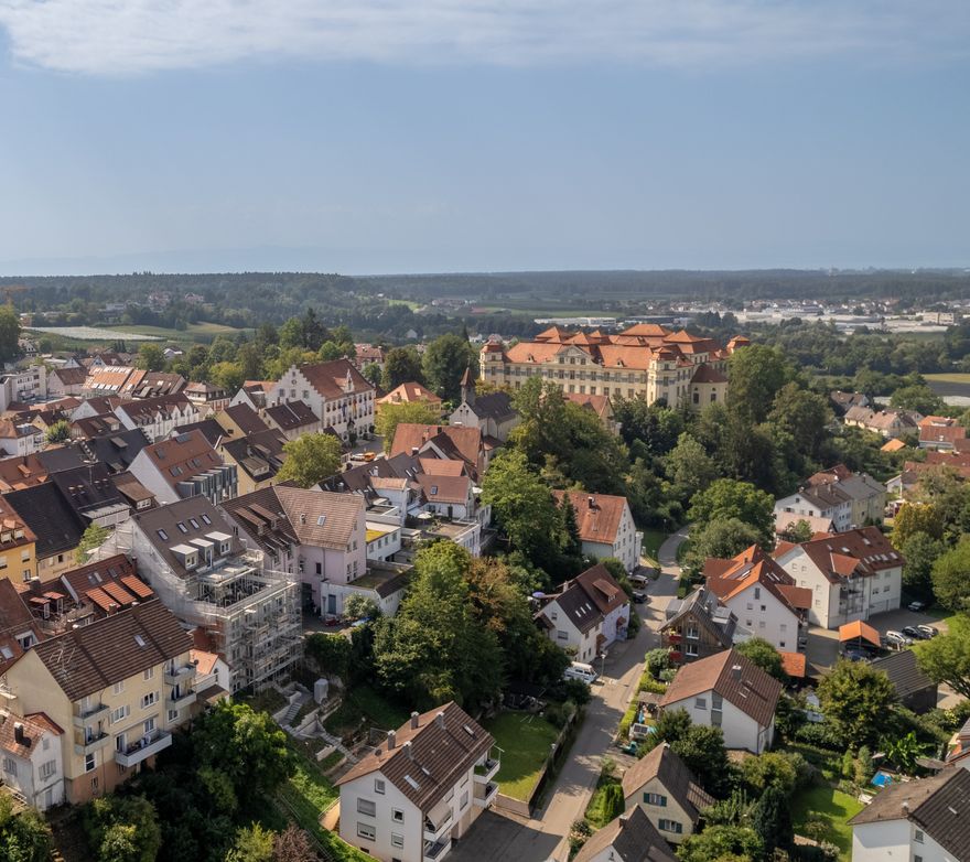
[[926, 342], [97, 341], [29, 294], [0, 859], [970, 860], [970, 413]]

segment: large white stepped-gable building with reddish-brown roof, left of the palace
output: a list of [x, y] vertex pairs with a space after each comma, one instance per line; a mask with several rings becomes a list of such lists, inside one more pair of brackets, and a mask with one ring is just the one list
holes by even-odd
[[301, 400], [345, 443], [374, 433], [375, 389], [348, 359], [292, 366], [267, 394], [267, 407]]

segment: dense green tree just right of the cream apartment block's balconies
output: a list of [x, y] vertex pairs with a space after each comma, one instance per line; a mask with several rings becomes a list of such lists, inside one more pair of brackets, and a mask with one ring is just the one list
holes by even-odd
[[246, 810], [292, 775], [295, 758], [287, 734], [265, 712], [219, 701], [195, 720], [191, 736], [196, 769], [224, 773]]

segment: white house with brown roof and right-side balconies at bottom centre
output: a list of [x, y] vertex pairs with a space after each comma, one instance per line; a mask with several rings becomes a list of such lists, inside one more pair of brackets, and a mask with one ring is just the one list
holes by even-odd
[[495, 740], [455, 703], [390, 731], [337, 782], [340, 833], [381, 862], [436, 862], [498, 794]]

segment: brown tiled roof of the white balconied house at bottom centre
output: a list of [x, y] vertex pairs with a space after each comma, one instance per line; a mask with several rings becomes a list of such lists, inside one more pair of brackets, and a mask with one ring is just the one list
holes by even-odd
[[495, 743], [492, 735], [454, 702], [402, 724], [396, 736], [394, 748], [388, 747], [387, 741], [382, 742], [337, 784], [379, 771], [420, 811], [427, 812]]

